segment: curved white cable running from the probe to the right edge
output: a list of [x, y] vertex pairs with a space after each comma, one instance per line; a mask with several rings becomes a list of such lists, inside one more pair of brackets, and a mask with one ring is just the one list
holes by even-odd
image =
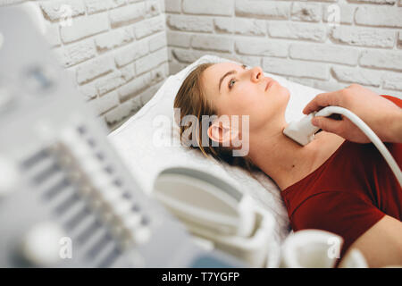
[[378, 138], [377, 134], [356, 114], [352, 113], [346, 108], [339, 106], [328, 106], [317, 112], [314, 116], [330, 116], [331, 114], [342, 114], [353, 122], [360, 130], [363, 131], [365, 136], [370, 139], [374, 146], [380, 151], [381, 155], [384, 157], [385, 161], [389, 164], [392, 172], [394, 172], [395, 176], [398, 179], [399, 185], [402, 187], [402, 172], [399, 169], [399, 166], [395, 159], [390, 155], [387, 147], [385, 147], [384, 143], [382, 143], [381, 139]]

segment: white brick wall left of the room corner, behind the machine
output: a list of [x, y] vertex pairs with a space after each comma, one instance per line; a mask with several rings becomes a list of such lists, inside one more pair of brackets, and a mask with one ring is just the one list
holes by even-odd
[[[145, 105], [168, 76], [164, 0], [32, 2], [43, 13], [55, 55], [111, 129]], [[71, 26], [63, 22], [63, 5], [71, 8]]]

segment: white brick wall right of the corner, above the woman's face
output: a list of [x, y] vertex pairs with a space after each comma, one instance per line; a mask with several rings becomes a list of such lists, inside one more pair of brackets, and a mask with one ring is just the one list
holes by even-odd
[[214, 54], [315, 88], [356, 82], [402, 97], [401, 0], [165, 0], [165, 7], [171, 73]]

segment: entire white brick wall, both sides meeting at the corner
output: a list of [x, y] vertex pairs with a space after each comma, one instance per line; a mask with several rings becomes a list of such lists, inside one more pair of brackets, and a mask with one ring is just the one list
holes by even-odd
[[[402, 97], [402, 0], [33, 2], [55, 55], [111, 128], [206, 54], [324, 90], [356, 82]], [[63, 25], [63, 5], [71, 26]]]

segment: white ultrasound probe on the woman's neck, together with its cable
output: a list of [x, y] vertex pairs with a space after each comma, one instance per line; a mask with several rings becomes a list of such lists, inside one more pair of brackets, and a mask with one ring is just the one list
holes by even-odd
[[293, 139], [298, 144], [305, 146], [314, 140], [314, 133], [319, 130], [318, 127], [314, 126], [311, 122], [314, 116], [327, 117], [331, 114], [342, 114], [353, 122], [360, 130], [363, 131], [364, 135], [370, 139], [374, 146], [378, 148], [381, 155], [384, 157], [385, 161], [389, 164], [392, 172], [398, 179], [399, 185], [402, 186], [402, 172], [395, 159], [390, 155], [387, 147], [382, 143], [381, 139], [374, 133], [374, 131], [356, 114], [352, 113], [346, 108], [339, 106], [328, 106], [320, 110], [319, 112], [314, 112], [306, 115], [298, 122], [290, 122], [288, 127], [283, 130], [283, 134]]

